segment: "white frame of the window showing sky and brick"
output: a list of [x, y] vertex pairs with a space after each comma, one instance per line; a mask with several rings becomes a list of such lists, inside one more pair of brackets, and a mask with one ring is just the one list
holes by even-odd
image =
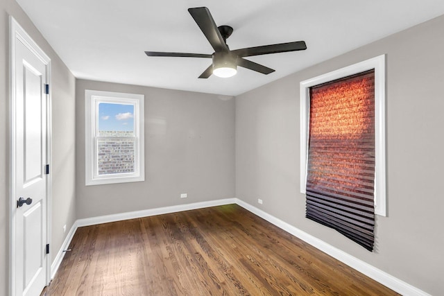
[[[99, 175], [96, 139], [99, 128], [99, 103], [134, 105], [135, 172]], [[144, 95], [85, 90], [85, 185], [140, 182], [145, 180]]]

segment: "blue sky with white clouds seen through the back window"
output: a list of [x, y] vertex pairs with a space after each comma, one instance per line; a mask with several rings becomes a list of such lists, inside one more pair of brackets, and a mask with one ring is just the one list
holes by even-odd
[[134, 105], [99, 103], [99, 132], [134, 132]]

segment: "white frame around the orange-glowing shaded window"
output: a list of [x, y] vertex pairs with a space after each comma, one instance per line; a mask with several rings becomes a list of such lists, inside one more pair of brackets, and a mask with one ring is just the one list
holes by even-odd
[[386, 59], [385, 55], [300, 82], [300, 193], [307, 186], [309, 88], [375, 69], [375, 214], [386, 216]]

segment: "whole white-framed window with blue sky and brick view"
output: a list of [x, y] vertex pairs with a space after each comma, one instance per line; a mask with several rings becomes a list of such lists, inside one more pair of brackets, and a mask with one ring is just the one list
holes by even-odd
[[144, 96], [85, 91], [85, 184], [144, 181]]

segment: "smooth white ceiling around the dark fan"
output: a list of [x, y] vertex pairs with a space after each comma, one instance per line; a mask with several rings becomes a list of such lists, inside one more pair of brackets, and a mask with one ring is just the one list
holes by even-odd
[[[76, 78], [236, 96], [444, 14], [443, 0], [17, 0]], [[239, 67], [232, 78], [198, 79], [212, 53], [187, 8], [207, 6], [241, 49], [305, 40], [306, 51], [248, 58], [276, 71]]]

